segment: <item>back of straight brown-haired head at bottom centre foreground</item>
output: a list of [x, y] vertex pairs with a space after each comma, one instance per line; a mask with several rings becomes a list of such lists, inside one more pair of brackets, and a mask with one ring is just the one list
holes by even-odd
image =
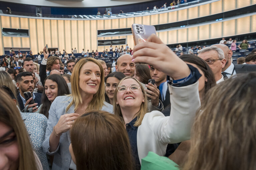
[[[95, 110], [76, 119], [70, 131], [69, 151], [77, 170], [133, 170], [127, 133], [120, 119]], [[100, 153], [100, 158], [99, 158]]]

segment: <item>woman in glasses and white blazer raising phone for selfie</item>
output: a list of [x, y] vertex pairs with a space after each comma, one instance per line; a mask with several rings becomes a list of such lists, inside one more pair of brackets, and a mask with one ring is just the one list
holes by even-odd
[[[145, 53], [148, 49], [150, 53]], [[168, 143], [190, 138], [193, 118], [200, 106], [198, 79], [201, 74], [175, 55], [155, 34], [134, 47], [132, 61], [147, 63], [172, 78], [168, 83], [171, 113], [167, 117], [160, 111], [147, 113], [147, 94], [137, 79], [126, 77], [115, 90], [114, 113], [123, 119], [136, 169], [140, 169], [141, 159], [149, 151], [163, 156]]]

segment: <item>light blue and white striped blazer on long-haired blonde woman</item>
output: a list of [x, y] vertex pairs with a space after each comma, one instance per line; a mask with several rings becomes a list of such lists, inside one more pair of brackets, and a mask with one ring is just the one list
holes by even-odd
[[[74, 104], [70, 109], [65, 112], [68, 104], [72, 101], [70, 96], [58, 96], [52, 102], [49, 110], [49, 118], [47, 122], [47, 128], [45, 132], [45, 138], [42, 144], [43, 151], [48, 155], [54, 155], [52, 169], [54, 170], [68, 170], [71, 162], [71, 155], [69, 153], [68, 147], [71, 143], [69, 131], [62, 133], [59, 140], [58, 148], [54, 152], [50, 152], [49, 139], [52, 133], [52, 128], [55, 126], [61, 115], [67, 113], [74, 113]], [[101, 110], [107, 111], [113, 114], [113, 106], [104, 102]]]

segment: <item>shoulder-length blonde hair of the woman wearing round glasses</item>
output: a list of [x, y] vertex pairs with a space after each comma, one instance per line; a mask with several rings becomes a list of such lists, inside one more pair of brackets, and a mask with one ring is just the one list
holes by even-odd
[[[132, 78], [132, 77], [125, 77], [123, 78], [119, 83], [118, 85], [120, 85], [122, 83], [123, 80], [125, 79], [134, 79], [140, 86], [141, 86], [141, 90], [142, 90], [142, 94], [144, 95], [144, 101], [145, 102], [142, 102], [141, 104], [141, 108], [139, 110], [138, 113], [135, 114], [135, 117], [137, 117], [137, 121], [135, 122], [134, 126], [140, 126], [141, 125], [141, 122], [143, 120], [143, 117], [144, 115], [147, 113], [148, 111], [148, 100], [147, 100], [147, 95], [146, 95], [146, 92], [143, 88], [143, 86], [141, 85], [141, 83], [136, 79], [136, 78]], [[117, 86], [118, 86], [117, 85]], [[117, 89], [115, 90], [115, 93], [114, 93], [114, 101], [113, 101], [113, 106], [114, 106], [114, 114], [117, 115], [117, 116], [121, 116], [122, 117], [122, 112], [121, 112], [121, 108], [119, 106], [119, 104], [116, 104], [116, 94], [117, 94]], [[135, 118], [134, 117], [134, 118]]]

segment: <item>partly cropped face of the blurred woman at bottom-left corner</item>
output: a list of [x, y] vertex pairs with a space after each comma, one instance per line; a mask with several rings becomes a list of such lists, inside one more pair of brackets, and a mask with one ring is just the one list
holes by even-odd
[[5, 123], [0, 122], [0, 169], [17, 170], [19, 148], [16, 134]]

